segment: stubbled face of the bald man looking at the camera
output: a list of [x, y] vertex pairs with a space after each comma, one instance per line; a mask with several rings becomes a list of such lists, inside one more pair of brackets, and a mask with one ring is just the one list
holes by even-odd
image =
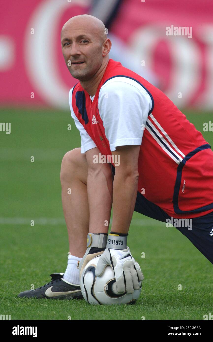
[[80, 81], [87, 81], [102, 65], [103, 41], [99, 35], [91, 34], [79, 26], [72, 24], [62, 30], [62, 52], [70, 74]]

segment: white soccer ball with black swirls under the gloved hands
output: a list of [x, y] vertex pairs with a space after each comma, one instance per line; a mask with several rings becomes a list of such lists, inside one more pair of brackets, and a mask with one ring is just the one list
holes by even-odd
[[107, 265], [101, 276], [95, 275], [100, 256], [90, 260], [81, 274], [81, 293], [85, 301], [89, 304], [135, 304], [141, 294], [142, 281], [139, 282], [139, 290], [118, 294], [112, 266]]

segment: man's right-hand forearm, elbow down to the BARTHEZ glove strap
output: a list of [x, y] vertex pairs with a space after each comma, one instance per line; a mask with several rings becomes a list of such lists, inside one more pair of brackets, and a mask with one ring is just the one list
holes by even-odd
[[138, 173], [115, 173], [113, 183], [112, 232], [127, 234], [137, 196]]

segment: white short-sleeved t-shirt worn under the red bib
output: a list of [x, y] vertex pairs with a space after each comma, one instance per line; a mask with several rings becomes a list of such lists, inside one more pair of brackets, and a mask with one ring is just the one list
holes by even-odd
[[[73, 88], [72, 88], [73, 89]], [[81, 135], [81, 153], [96, 147], [96, 144], [78, 121], [72, 109], [72, 89], [69, 92], [71, 116]], [[91, 97], [91, 100], [94, 100]], [[152, 107], [148, 92], [135, 80], [128, 77], [114, 77], [103, 84], [98, 96], [99, 115], [103, 120], [110, 150], [117, 146], [141, 145], [143, 126]]]

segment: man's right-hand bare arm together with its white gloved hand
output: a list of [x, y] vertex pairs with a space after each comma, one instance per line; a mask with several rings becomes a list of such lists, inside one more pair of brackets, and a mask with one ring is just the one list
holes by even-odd
[[[127, 246], [127, 236], [123, 235], [129, 231], [135, 206], [139, 149], [138, 145], [120, 146], [115, 152], [112, 152], [113, 155], [119, 155], [120, 164], [115, 166], [111, 232], [120, 234], [119, 236], [115, 236], [113, 233], [109, 234], [106, 249], [98, 260], [95, 275], [101, 276], [105, 267], [111, 264], [116, 279], [117, 293], [125, 291], [133, 293], [134, 290], [139, 290], [139, 281], [144, 279], [139, 264]], [[115, 160], [118, 161], [119, 158], [115, 158]]]

